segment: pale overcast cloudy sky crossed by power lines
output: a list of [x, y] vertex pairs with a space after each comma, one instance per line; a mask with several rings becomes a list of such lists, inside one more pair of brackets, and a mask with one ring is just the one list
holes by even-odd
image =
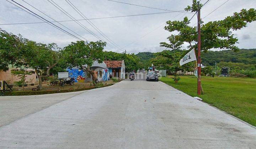
[[[11, 0], [8, 0], [11, 1]], [[0, 24], [7, 23], [30, 23], [43, 22], [31, 14], [12, 5], [6, 0], [0, 0]], [[87, 18], [102, 18], [126, 15], [138, 15], [146, 13], [167, 12], [165, 10], [150, 9], [134, 5], [121, 4], [108, 0], [70, 0], [84, 15], [79, 15], [65, 0], [53, 0], [55, 5], [59, 5], [64, 12], [66, 11], [71, 16], [68, 17], [62, 11], [58, 10], [51, 0], [14, 0], [18, 4], [26, 7], [37, 15], [45, 18], [48, 21], [66, 21], [75, 18], [75, 20]], [[50, 2], [53, 4], [51, 4]], [[192, 0], [116, 0], [130, 4], [155, 7], [159, 9], [168, 9], [180, 11], [187, 5], [192, 4]], [[207, 0], [201, 0], [204, 4]], [[212, 12], [214, 9], [222, 5], [226, 0], [210, 0], [201, 10], [202, 18]], [[12, 1], [11, 1], [12, 2]], [[39, 12], [38, 10], [43, 13]], [[14, 2], [13, 2], [14, 3]], [[17, 5], [17, 4], [16, 4]], [[255, 0], [229, 0], [219, 9], [204, 18], [204, 22], [222, 20], [226, 16], [230, 16], [233, 12], [239, 12], [241, 9], [256, 8]], [[139, 53], [144, 51], [157, 52], [165, 48], [159, 47], [160, 42], [167, 42], [166, 37], [170, 35], [163, 29], [164, 24], [168, 20], [182, 20], [183, 17], [192, 17], [189, 13], [162, 13], [154, 15], [117, 17], [117, 18], [102, 18], [90, 20], [95, 26], [92, 27], [86, 20], [79, 22], [68, 21], [54, 23], [56, 26], [68, 31], [69, 33], [79, 37], [82, 40], [96, 41], [98, 38], [106, 41], [108, 46], [106, 50], [123, 52], [126, 49], [129, 53]], [[79, 25], [80, 23], [80, 25]], [[196, 23], [196, 17], [191, 20], [191, 25]], [[66, 28], [65, 28], [65, 27]], [[36, 24], [15, 24], [15, 25], [0, 25], [0, 28], [14, 34], [21, 34], [23, 37], [34, 40], [40, 43], [57, 43], [60, 47], [68, 45], [70, 42], [75, 42], [77, 39], [68, 34], [59, 31], [57, 28], [50, 26], [47, 23]], [[67, 29], [68, 28], [68, 29]], [[96, 29], [102, 32], [97, 32]], [[71, 31], [70, 31], [70, 30]], [[88, 31], [86, 31], [88, 30]], [[239, 39], [239, 48], [252, 49], [256, 48], [256, 22], [248, 23], [246, 28], [233, 32]], [[93, 35], [94, 34], [94, 35]], [[116, 46], [109, 41], [113, 41]], [[96, 38], [96, 37], [97, 38]], [[184, 45], [185, 47], [185, 45]]]

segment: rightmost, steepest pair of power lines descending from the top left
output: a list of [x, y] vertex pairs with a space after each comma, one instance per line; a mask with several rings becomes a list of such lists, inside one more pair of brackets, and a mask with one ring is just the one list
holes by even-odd
[[[72, 2], [70, 2], [69, 0], [65, 0], [82, 18], [84, 19], [88, 19]], [[107, 37], [107, 35], [105, 35], [100, 29], [98, 29], [94, 23], [92, 23], [90, 20], [86, 20], [86, 22], [88, 22], [98, 33], [100, 33], [106, 40], [108, 40], [113, 46], [115, 46], [117, 49], [120, 49], [118, 48], [118, 45], [114, 42], [112, 42], [112, 40]], [[105, 36], [104, 36], [105, 35]]]

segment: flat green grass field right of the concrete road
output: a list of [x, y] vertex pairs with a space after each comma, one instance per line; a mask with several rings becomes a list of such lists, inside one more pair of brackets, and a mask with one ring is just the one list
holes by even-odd
[[[190, 96], [198, 96], [197, 78], [180, 77], [178, 84], [170, 76], [162, 77], [160, 81]], [[204, 102], [256, 126], [256, 79], [203, 76], [202, 87], [205, 93], [199, 97]]]

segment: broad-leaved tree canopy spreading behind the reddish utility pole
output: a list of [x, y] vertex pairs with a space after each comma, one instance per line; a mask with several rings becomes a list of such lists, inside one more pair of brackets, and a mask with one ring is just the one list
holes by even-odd
[[[197, 0], [193, 0], [192, 6], [185, 8], [186, 11], [196, 12], [199, 7]], [[202, 7], [202, 5], [200, 5]], [[210, 21], [201, 27], [201, 51], [208, 51], [212, 48], [230, 49], [238, 51], [235, 46], [238, 38], [234, 37], [231, 30], [238, 30], [246, 27], [248, 22], [256, 20], [255, 9], [242, 9], [240, 12], [234, 12], [233, 16], [228, 16], [224, 20]], [[161, 42], [160, 46], [171, 49], [181, 49], [181, 45], [188, 43], [188, 49], [197, 49], [197, 32], [196, 27], [190, 26], [190, 20], [187, 17], [183, 21], [167, 21], [165, 30], [169, 32], [177, 31], [178, 34], [172, 34], [167, 39], [169, 43]]]

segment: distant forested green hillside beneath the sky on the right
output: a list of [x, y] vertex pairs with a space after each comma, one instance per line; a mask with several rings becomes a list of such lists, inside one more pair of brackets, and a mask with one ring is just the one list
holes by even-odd
[[[136, 56], [140, 59], [139, 68], [148, 68], [151, 66], [154, 53], [140, 52]], [[256, 77], [256, 49], [241, 49], [238, 52], [232, 50], [208, 51], [207, 53], [202, 52], [201, 58], [202, 64], [209, 67], [213, 66], [212, 69], [215, 68], [216, 61], [219, 71], [222, 67], [230, 67], [230, 73], [234, 76]]]

